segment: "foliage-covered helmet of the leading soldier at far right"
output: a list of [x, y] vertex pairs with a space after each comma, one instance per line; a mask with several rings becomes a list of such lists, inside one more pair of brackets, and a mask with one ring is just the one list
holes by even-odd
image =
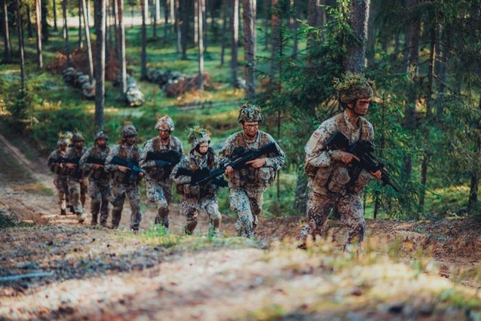
[[346, 72], [342, 79], [333, 79], [334, 88], [339, 93], [339, 100], [348, 104], [359, 98], [371, 98], [374, 96], [374, 82], [366, 79], [362, 74]]

